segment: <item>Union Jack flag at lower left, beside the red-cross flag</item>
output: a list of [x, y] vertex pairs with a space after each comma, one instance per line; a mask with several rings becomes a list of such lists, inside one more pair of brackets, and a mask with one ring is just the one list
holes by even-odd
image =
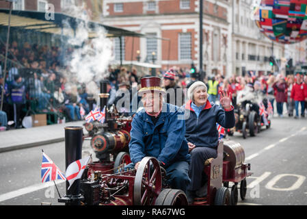
[[57, 179], [66, 180], [64, 173], [53, 163], [53, 161], [43, 152], [42, 153], [42, 183]]

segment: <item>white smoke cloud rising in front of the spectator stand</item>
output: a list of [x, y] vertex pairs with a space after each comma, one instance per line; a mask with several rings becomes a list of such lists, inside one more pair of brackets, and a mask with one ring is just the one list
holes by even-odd
[[[100, 81], [108, 77], [108, 65], [114, 57], [111, 49], [112, 42], [106, 37], [105, 29], [98, 25], [89, 27], [90, 18], [84, 3], [79, 6], [70, 5], [69, 8], [64, 8], [64, 11], [70, 16], [81, 19], [77, 23], [75, 33], [70, 33], [72, 37], [68, 39], [68, 44], [75, 47], [65, 63], [68, 66], [66, 75], [68, 82], [77, 81], [89, 85], [91, 81]], [[71, 31], [72, 27], [68, 21], [64, 21], [63, 25], [68, 27], [64, 30]], [[89, 38], [92, 34], [95, 38]]]

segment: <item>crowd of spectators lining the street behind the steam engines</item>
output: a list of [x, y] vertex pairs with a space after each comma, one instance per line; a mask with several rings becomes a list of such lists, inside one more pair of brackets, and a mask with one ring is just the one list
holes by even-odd
[[[62, 51], [58, 47], [41, 46], [38, 44], [30, 45], [25, 43], [18, 45], [12, 42], [8, 53], [8, 70], [5, 79], [3, 79], [3, 55], [5, 47], [0, 47], [0, 86], [2, 92], [2, 83], [5, 80], [5, 92], [3, 98], [3, 112], [7, 114], [7, 120], [14, 120], [14, 127], [21, 128], [23, 117], [31, 110], [36, 113], [53, 112], [59, 117], [66, 117], [66, 121], [82, 120], [86, 114], [96, 107], [96, 94], [89, 92], [91, 83], [84, 84], [74, 81], [68, 83], [66, 72], [67, 66], [61, 62]], [[66, 51], [66, 55], [72, 53], [72, 49]], [[128, 70], [124, 67], [108, 69], [109, 92], [108, 105], [116, 104], [123, 96], [122, 90], [129, 91], [129, 101], [139, 96], [133, 89], [139, 90], [141, 87], [140, 77], [152, 75], [148, 73], [137, 73], [135, 68]], [[198, 73], [191, 74], [189, 69], [177, 68], [173, 66], [170, 69], [157, 70], [156, 75], [163, 78], [165, 90], [175, 89], [175, 95], [181, 95], [174, 99], [166, 96], [165, 101], [175, 105], [183, 105], [186, 100], [186, 90], [191, 83], [198, 80]], [[72, 79], [70, 79], [72, 81]], [[95, 81], [96, 86], [98, 81]], [[302, 112], [300, 116], [304, 117], [304, 109], [307, 109], [307, 76], [288, 75], [261, 75], [254, 76], [246, 74], [245, 76], [232, 75], [224, 77], [223, 75], [214, 75], [204, 78], [204, 83], [208, 88], [209, 100], [218, 101], [219, 90], [226, 90], [231, 93], [232, 104], [236, 105], [237, 92], [243, 90], [246, 86], [261, 93], [269, 99], [271, 105], [276, 101], [276, 112], [278, 116], [283, 116], [284, 103], [286, 103], [287, 114], [299, 117], [298, 107], [301, 105]], [[181, 88], [181, 92], [176, 92]], [[0, 93], [1, 94], [1, 93]], [[169, 95], [169, 94], [168, 94]], [[293, 111], [295, 109], [295, 115]], [[131, 112], [132, 107], [123, 105], [120, 112]], [[1, 115], [0, 115], [1, 116]], [[6, 126], [7, 121], [0, 120], [0, 126]], [[57, 121], [54, 121], [57, 123]]]

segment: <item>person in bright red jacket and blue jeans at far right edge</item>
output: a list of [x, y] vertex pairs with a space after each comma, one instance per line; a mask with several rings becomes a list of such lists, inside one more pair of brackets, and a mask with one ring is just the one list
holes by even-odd
[[296, 75], [296, 83], [294, 83], [291, 90], [291, 99], [295, 101], [295, 116], [294, 118], [299, 117], [299, 103], [301, 104], [301, 116], [305, 117], [305, 101], [307, 100], [307, 87], [303, 83], [303, 76]]

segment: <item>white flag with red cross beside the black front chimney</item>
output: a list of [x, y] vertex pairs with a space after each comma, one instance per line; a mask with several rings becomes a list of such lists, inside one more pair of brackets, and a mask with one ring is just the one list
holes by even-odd
[[68, 190], [75, 180], [81, 179], [83, 171], [86, 165], [88, 165], [89, 161], [90, 161], [90, 156], [85, 157], [83, 159], [78, 159], [75, 162], [69, 164], [69, 166], [66, 169], [66, 176], [67, 176], [66, 179], [69, 183]]

